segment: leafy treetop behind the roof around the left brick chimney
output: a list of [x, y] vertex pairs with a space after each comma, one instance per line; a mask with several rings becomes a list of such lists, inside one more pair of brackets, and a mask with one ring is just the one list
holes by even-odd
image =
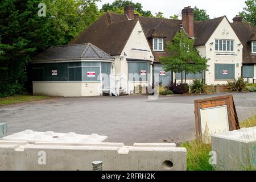
[[106, 3], [102, 6], [101, 12], [114, 12], [118, 14], [123, 14], [123, 8], [127, 5], [133, 5], [135, 8], [135, 13], [142, 16], [152, 16], [151, 11], [143, 11], [143, 6], [141, 3], [134, 3], [129, 0], [115, 0], [112, 4]]

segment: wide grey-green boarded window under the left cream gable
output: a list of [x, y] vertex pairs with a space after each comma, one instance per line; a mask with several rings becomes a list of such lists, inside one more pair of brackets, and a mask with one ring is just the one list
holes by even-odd
[[[141, 71], [146, 71], [146, 75], [141, 75]], [[129, 81], [149, 81], [150, 63], [129, 62], [128, 63]]]

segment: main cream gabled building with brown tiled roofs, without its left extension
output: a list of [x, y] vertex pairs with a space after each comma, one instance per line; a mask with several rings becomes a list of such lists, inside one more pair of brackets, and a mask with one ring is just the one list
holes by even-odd
[[[106, 81], [109, 82], [109, 87], [102, 86], [103, 80], [99, 78], [99, 91], [93, 95], [105, 92], [118, 96], [120, 93], [135, 92], [139, 85], [150, 88], [152, 84], [159, 82], [167, 85], [171, 81], [180, 81], [181, 73], [165, 72], [164, 65], [159, 61], [161, 56], [167, 55], [164, 51], [166, 42], [171, 42], [180, 30], [195, 39], [199, 54], [209, 59], [209, 70], [196, 75], [188, 74], [188, 81], [201, 78], [210, 85], [226, 84], [227, 80], [241, 75], [248, 77], [249, 81], [255, 79], [256, 28], [243, 23], [238, 16], [233, 19], [233, 23], [226, 16], [197, 22], [193, 20], [191, 7], [182, 10], [181, 20], [174, 20], [138, 16], [134, 14], [133, 6], [126, 6], [125, 15], [105, 13], [69, 42], [69, 46], [90, 43], [112, 57], [113, 67], [109, 81]], [[32, 62], [33, 65], [36, 65], [36, 60]], [[44, 60], [41, 59], [40, 63], [44, 63]], [[71, 81], [64, 80], [68, 84]], [[34, 80], [35, 90], [40, 90], [38, 83]]]

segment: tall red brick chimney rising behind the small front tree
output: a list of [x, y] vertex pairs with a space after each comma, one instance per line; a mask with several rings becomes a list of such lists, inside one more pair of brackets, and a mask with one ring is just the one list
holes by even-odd
[[194, 9], [191, 6], [184, 7], [182, 14], [182, 26], [185, 32], [192, 38], [194, 37]]

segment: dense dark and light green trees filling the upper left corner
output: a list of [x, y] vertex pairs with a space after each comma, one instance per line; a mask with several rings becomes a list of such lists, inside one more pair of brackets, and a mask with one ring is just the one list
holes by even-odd
[[[39, 3], [46, 16], [39, 16]], [[96, 0], [0, 2], [0, 97], [20, 93], [27, 65], [44, 49], [68, 43], [98, 18]]]

